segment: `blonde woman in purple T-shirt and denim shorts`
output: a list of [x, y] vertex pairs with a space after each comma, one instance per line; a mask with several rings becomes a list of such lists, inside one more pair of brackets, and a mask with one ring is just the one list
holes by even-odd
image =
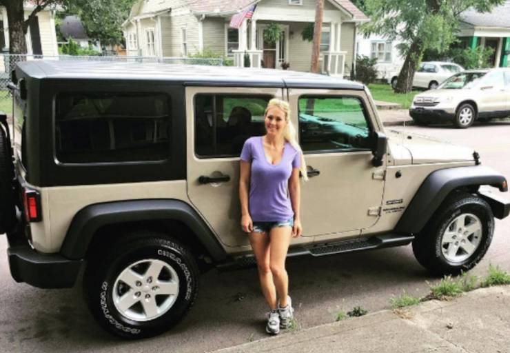
[[270, 308], [266, 331], [278, 334], [293, 318], [285, 258], [291, 237], [302, 232], [299, 174], [301, 171], [305, 180], [307, 174], [296, 130], [289, 120], [289, 103], [269, 101], [264, 125], [266, 134], [247, 139], [241, 152], [241, 228], [249, 233], [262, 292]]

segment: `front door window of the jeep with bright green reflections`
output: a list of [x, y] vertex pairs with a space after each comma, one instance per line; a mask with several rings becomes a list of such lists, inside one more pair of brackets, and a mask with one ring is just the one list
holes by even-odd
[[369, 149], [368, 115], [357, 97], [300, 97], [299, 141], [305, 152]]

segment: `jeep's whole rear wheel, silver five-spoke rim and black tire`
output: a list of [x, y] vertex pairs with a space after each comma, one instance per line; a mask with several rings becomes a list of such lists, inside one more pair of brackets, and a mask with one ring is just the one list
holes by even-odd
[[134, 232], [90, 257], [83, 288], [105, 330], [141, 339], [165, 332], [184, 316], [196, 297], [198, 268], [177, 241]]

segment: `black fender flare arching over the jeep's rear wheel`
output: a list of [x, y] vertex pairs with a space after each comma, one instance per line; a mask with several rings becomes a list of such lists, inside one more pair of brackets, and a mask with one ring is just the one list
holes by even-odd
[[201, 216], [187, 203], [172, 199], [148, 199], [97, 203], [81, 209], [71, 221], [61, 255], [83, 259], [99, 228], [115, 223], [172, 219], [187, 225], [214, 261], [224, 261], [227, 253]]

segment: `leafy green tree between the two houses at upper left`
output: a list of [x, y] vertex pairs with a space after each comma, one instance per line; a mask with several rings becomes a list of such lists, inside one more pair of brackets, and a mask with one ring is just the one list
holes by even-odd
[[66, 12], [76, 14], [91, 39], [102, 44], [123, 42], [122, 23], [136, 0], [64, 0]]

